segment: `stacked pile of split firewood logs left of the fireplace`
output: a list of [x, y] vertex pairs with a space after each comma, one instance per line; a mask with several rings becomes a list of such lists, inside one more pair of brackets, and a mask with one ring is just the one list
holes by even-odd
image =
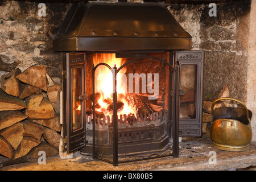
[[60, 92], [43, 65], [1, 77], [0, 155], [17, 159], [39, 158], [39, 151], [59, 153]]

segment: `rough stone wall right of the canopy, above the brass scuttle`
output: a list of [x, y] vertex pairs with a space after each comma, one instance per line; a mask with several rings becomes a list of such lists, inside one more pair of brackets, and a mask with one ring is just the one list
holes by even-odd
[[205, 51], [204, 94], [228, 84], [230, 97], [245, 102], [250, 1], [216, 3], [217, 16], [209, 16], [208, 6], [174, 4], [169, 10], [192, 35], [192, 49]]

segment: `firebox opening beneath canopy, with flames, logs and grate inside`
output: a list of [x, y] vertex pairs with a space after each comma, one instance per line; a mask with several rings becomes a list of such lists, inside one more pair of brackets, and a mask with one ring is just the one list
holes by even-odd
[[[87, 65], [93, 67], [93, 81], [86, 77], [87, 88], [94, 83], [94, 92], [91, 94], [93, 89], [86, 92], [90, 96], [86, 101], [88, 143], [81, 149], [82, 153], [92, 152], [97, 157], [109, 158], [113, 155], [114, 142], [118, 142], [121, 155], [162, 151], [170, 146], [170, 122], [167, 122], [170, 68], [166, 65], [169, 54], [126, 54], [119, 58], [121, 56], [118, 53], [85, 55]], [[90, 68], [87, 73], [89, 71]], [[116, 88], [113, 88], [114, 72]]]

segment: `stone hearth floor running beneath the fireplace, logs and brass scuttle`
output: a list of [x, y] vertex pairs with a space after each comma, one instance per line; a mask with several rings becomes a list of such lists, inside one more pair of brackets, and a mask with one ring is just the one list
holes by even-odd
[[[0, 171], [198, 171], [198, 170], [255, 170], [256, 141], [250, 149], [243, 152], [221, 151], [211, 146], [212, 140], [204, 136], [179, 143], [179, 158], [167, 156], [139, 162], [110, 163], [76, 152], [72, 159], [60, 159], [59, 155], [46, 158], [46, 164], [38, 159], [30, 162], [0, 166]], [[0, 163], [9, 160], [0, 157]]]

